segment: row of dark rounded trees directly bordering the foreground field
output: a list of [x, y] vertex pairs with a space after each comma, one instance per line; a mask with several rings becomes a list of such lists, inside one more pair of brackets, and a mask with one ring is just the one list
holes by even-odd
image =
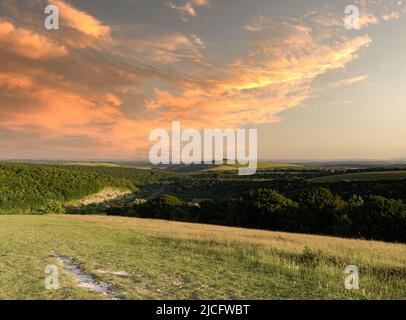
[[345, 201], [327, 188], [303, 192], [295, 200], [272, 189], [199, 204], [160, 195], [111, 207], [107, 214], [406, 242], [405, 202], [375, 195]]

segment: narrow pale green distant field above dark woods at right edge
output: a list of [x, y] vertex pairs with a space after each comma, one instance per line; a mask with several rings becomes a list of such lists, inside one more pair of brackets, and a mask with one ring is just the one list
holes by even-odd
[[372, 181], [372, 180], [401, 180], [406, 179], [406, 171], [375, 171], [359, 173], [343, 173], [310, 179], [312, 182]]

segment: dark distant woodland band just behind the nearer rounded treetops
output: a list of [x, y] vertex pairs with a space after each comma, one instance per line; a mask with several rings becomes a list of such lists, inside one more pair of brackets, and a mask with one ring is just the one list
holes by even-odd
[[306, 191], [327, 188], [343, 199], [350, 199], [354, 194], [360, 196], [378, 195], [389, 199], [406, 201], [406, 179], [403, 180], [371, 180], [371, 181], [337, 181], [329, 183], [312, 182], [308, 177], [314, 173], [295, 172], [268, 174], [267, 179], [242, 179], [238, 176], [200, 175], [188, 178], [173, 179], [171, 183], [157, 182], [145, 185], [141, 193], [145, 197], [153, 194], [154, 190], [161, 189], [161, 193], [177, 196], [179, 198], [195, 200], [221, 200], [238, 196], [253, 189], [274, 189], [283, 195], [297, 199]]

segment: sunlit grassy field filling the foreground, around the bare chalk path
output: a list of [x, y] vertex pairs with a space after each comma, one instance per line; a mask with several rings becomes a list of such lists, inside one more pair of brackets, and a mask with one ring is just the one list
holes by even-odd
[[[56, 256], [72, 257], [120, 299], [406, 298], [406, 245], [65, 215], [0, 216], [0, 299], [106, 298], [80, 288]], [[360, 290], [344, 288], [350, 264]], [[44, 288], [47, 265], [59, 266], [58, 290]]]

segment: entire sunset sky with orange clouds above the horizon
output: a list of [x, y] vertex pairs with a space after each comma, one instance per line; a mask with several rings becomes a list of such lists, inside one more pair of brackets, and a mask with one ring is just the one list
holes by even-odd
[[404, 0], [2, 0], [0, 158], [145, 159], [172, 121], [257, 128], [261, 159], [406, 158], [405, 30]]

